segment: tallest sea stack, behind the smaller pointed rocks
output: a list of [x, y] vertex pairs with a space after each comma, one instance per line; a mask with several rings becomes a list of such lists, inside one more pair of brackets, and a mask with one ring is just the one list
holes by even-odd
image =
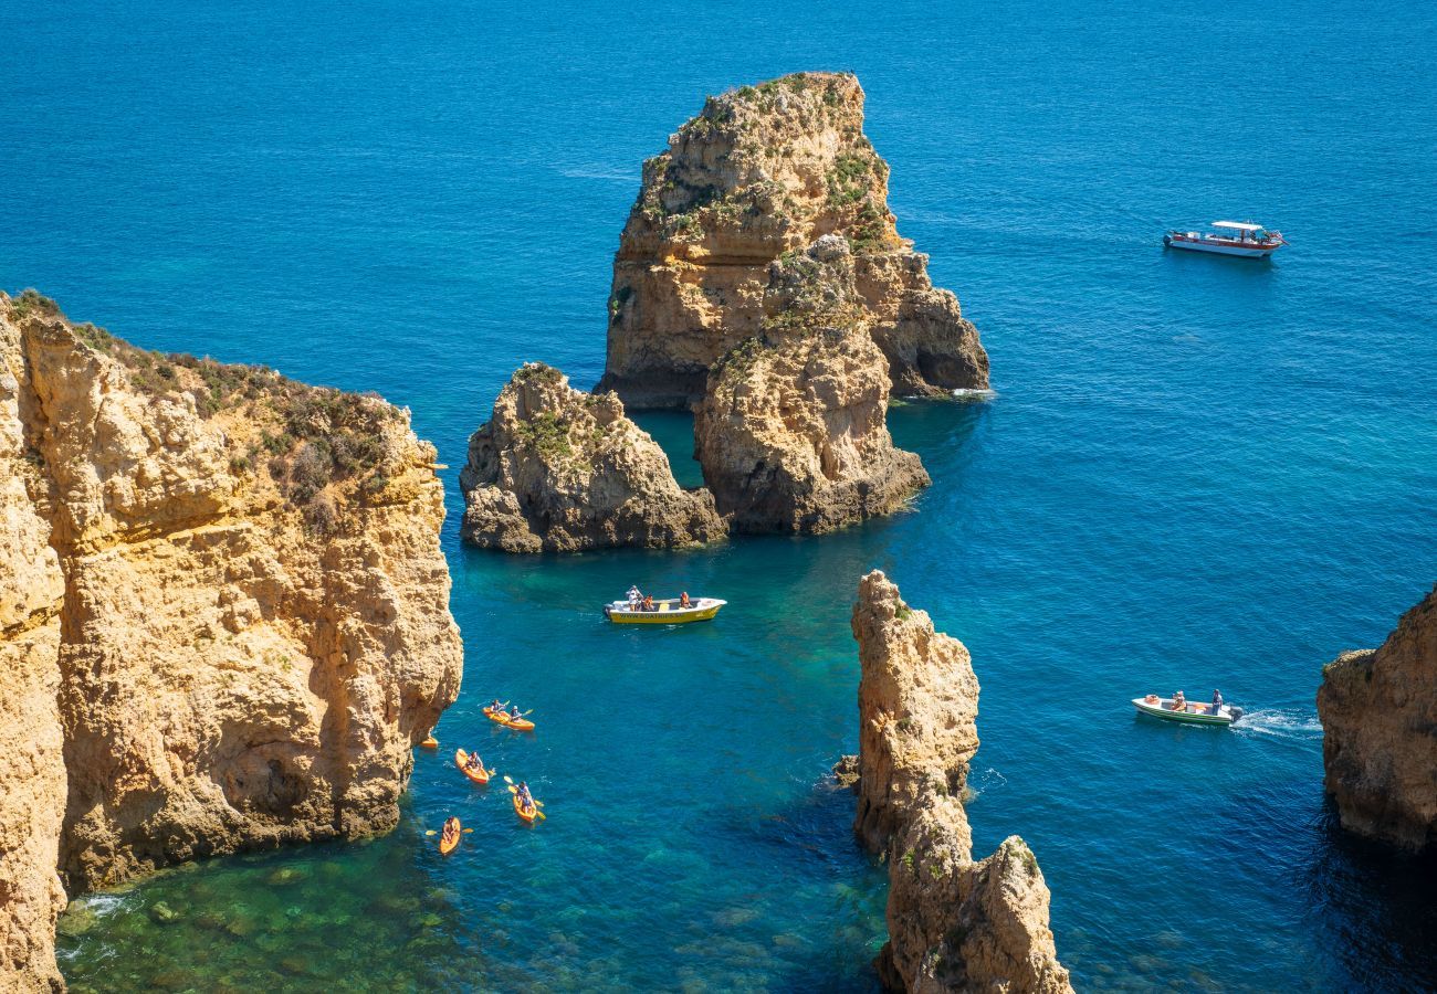
[[708, 98], [644, 164], [614, 259], [599, 389], [632, 408], [696, 404], [708, 366], [759, 333], [769, 263], [825, 234], [854, 249], [867, 333], [894, 391], [987, 386], [957, 297], [898, 237], [858, 79], [808, 72]]

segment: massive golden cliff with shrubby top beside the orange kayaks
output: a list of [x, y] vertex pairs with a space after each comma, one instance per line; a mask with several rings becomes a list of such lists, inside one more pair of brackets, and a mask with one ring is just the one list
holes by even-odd
[[461, 671], [434, 458], [0, 294], [0, 987], [59, 984], [62, 881], [398, 822]]

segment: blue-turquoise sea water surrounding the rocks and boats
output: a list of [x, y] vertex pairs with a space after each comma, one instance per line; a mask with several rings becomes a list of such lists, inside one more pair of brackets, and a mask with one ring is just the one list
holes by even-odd
[[[464, 631], [404, 822], [80, 902], [80, 990], [869, 990], [884, 872], [825, 771], [888, 570], [973, 651], [979, 853], [1033, 846], [1081, 988], [1437, 984], [1430, 862], [1336, 833], [1321, 665], [1437, 579], [1437, 42], [1415, 0], [0, 7], [0, 284], [161, 349], [414, 409]], [[468, 432], [525, 359], [602, 371], [638, 164], [703, 95], [854, 69], [901, 231], [993, 356], [895, 408], [934, 486], [839, 536], [463, 549]], [[1270, 264], [1164, 253], [1255, 217]], [[681, 419], [652, 419], [687, 463]], [[631, 632], [631, 582], [733, 603]], [[1127, 700], [1213, 685], [1246, 728]], [[533, 707], [532, 737], [480, 705]], [[424, 830], [473, 826], [441, 860]], [[164, 905], [164, 909], [160, 909]]]

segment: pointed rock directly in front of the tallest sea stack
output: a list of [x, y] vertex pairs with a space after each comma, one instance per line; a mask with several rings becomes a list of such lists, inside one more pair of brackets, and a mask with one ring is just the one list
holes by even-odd
[[831, 531], [928, 484], [888, 434], [888, 373], [839, 236], [770, 266], [767, 317], [713, 368], [694, 452], [736, 531]]

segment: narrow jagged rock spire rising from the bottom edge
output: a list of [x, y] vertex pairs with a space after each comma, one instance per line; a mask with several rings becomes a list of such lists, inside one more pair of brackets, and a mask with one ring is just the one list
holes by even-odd
[[1049, 892], [1017, 836], [973, 862], [963, 797], [977, 751], [979, 684], [967, 649], [935, 632], [874, 570], [858, 587], [859, 840], [887, 856], [894, 991], [1071, 991], [1048, 926]]

